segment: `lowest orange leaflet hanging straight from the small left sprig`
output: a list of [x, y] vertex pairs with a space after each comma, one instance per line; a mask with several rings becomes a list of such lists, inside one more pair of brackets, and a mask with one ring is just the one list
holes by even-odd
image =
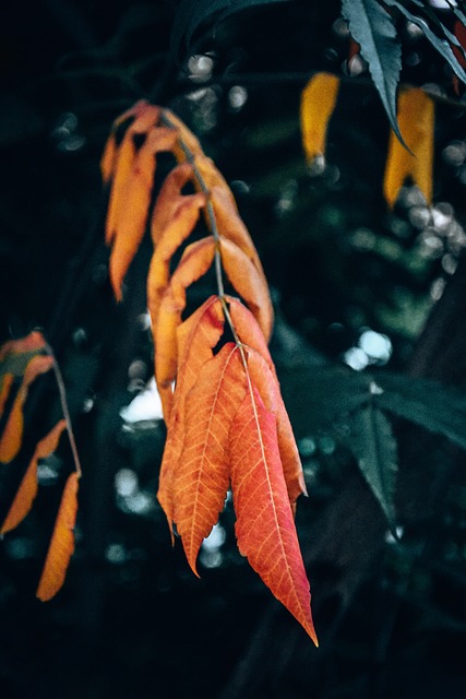
[[74, 525], [77, 512], [79, 476], [68, 476], [57, 520], [36, 595], [43, 602], [51, 600], [64, 582], [70, 558], [74, 552]]

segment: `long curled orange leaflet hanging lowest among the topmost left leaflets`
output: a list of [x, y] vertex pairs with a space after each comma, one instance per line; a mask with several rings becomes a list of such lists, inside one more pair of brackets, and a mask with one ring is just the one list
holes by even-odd
[[110, 281], [117, 300], [121, 300], [121, 284], [144, 237], [156, 168], [156, 153], [170, 151], [176, 133], [171, 129], [154, 128], [138, 151], [122, 192], [124, 208], [115, 222], [110, 256]]

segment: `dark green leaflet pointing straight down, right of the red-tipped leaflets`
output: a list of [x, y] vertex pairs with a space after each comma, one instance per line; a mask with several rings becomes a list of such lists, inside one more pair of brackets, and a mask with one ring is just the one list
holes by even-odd
[[396, 440], [390, 422], [372, 401], [354, 413], [348, 447], [394, 530], [394, 495], [398, 469]]

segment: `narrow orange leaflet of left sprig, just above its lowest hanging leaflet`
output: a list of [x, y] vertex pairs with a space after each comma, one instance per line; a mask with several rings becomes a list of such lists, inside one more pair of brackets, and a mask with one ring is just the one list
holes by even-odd
[[65, 427], [67, 422], [61, 419], [49, 434], [37, 443], [34, 457], [27, 466], [26, 473], [21, 481], [17, 493], [0, 529], [0, 534], [5, 534], [17, 526], [29, 512], [37, 495], [37, 462], [39, 459], [49, 457], [57, 449], [61, 433]]

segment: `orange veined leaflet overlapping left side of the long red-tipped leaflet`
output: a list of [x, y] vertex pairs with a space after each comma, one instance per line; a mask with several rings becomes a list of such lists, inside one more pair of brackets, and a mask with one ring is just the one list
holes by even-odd
[[177, 530], [194, 573], [201, 544], [224, 509], [229, 486], [229, 429], [244, 393], [239, 348], [227, 343], [204, 364], [186, 398], [184, 448], [174, 478], [174, 501]]

